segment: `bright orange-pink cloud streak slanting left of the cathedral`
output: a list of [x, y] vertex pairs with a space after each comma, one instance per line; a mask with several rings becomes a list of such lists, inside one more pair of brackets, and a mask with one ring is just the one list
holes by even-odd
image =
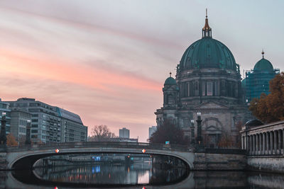
[[156, 81], [126, 74], [113, 69], [91, 67], [85, 64], [74, 64], [62, 59], [47, 57], [31, 58], [17, 52], [0, 50], [3, 69], [10, 73], [34, 76], [40, 79], [53, 79], [73, 84], [81, 84], [104, 91], [113, 91], [112, 86], [121, 86], [135, 90], [160, 91]]

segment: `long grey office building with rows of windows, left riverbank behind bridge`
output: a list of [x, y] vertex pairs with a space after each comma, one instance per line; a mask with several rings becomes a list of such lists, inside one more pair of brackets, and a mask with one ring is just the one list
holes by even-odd
[[[67, 110], [35, 101], [35, 98], [19, 98], [17, 101], [8, 101], [6, 103], [9, 103], [10, 108], [21, 108], [31, 113], [32, 142], [87, 141], [87, 127], [82, 124], [82, 121], [77, 122], [70, 119], [68, 114], [71, 113]], [[77, 129], [78, 126], [84, 127], [84, 129]], [[80, 132], [80, 134], [77, 134], [77, 132]], [[84, 134], [81, 134], [81, 132], [84, 132]], [[81, 138], [82, 135], [85, 136], [84, 139]]]

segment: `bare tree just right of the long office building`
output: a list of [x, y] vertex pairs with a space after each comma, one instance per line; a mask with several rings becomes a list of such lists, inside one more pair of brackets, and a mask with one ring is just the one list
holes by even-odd
[[89, 137], [88, 140], [102, 142], [115, 137], [116, 135], [113, 132], [110, 132], [107, 125], [95, 125], [94, 128], [92, 128], [92, 136]]

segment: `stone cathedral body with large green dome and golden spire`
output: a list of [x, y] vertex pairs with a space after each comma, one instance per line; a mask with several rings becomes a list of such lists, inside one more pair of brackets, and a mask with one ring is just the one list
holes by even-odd
[[191, 120], [197, 120], [199, 112], [205, 147], [219, 147], [225, 136], [237, 146], [239, 125], [249, 118], [239, 64], [226, 45], [212, 38], [207, 16], [202, 38], [185, 50], [175, 79], [170, 75], [165, 80], [163, 107], [155, 112], [156, 122], [161, 125], [165, 119], [173, 120], [185, 136], [191, 137]]

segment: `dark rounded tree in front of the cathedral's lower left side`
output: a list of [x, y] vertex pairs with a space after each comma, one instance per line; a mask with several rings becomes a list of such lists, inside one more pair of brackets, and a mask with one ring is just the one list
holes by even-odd
[[159, 125], [149, 139], [151, 143], [165, 144], [166, 141], [169, 141], [170, 144], [187, 144], [180, 127], [174, 125], [170, 120], [165, 120], [163, 125]]

